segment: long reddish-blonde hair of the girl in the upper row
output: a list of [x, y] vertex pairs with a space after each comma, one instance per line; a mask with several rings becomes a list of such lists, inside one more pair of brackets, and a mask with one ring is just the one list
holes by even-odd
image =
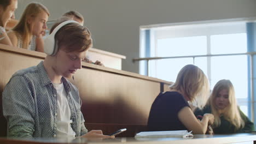
[[41, 3], [32, 2], [27, 5], [25, 11], [23, 12], [21, 19], [19, 23], [13, 28], [13, 31], [17, 32], [21, 35], [23, 44], [22, 48], [27, 49], [30, 38], [32, 36], [32, 29], [30, 29], [30, 26], [27, 23], [27, 20], [32, 17], [36, 17], [39, 13], [44, 11], [48, 16], [50, 15], [49, 10]]

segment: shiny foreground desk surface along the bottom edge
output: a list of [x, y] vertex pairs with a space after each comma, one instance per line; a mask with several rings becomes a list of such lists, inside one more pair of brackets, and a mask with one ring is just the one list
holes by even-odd
[[183, 139], [182, 137], [116, 137], [115, 139], [10, 139], [10, 138], [0, 138], [0, 143], [10, 143], [10, 144], [21, 144], [21, 143], [176, 143], [176, 144], [188, 144], [188, 143], [253, 143], [256, 140], [256, 133], [251, 134], [235, 134], [235, 135], [195, 135], [193, 138]]

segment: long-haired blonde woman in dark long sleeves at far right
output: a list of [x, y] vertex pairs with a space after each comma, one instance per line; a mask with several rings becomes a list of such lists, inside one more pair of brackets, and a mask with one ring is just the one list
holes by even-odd
[[230, 80], [220, 80], [213, 88], [207, 105], [195, 110], [195, 115], [212, 113], [214, 115], [214, 134], [242, 133], [254, 130], [253, 123], [239, 109], [235, 90]]

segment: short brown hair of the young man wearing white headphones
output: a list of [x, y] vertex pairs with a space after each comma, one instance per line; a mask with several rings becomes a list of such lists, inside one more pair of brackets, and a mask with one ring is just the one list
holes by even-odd
[[[71, 20], [69, 17], [61, 17], [57, 19], [50, 33], [53, 32], [60, 23]], [[65, 45], [66, 52], [83, 52], [92, 47], [91, 33], [88, 28], [80, 25], [79, 23], [68, 23], [61, 27], [55, 34], [55, 40], [58, 46]]]

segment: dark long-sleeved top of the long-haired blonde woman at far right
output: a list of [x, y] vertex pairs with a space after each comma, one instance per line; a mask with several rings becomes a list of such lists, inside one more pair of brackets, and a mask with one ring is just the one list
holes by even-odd
[[[253, 131], [254, 125], [249, 120], [249, 118], [239, 109], [241, 118], [243, 121], [245, 121], [245, 127], [240, 128], [238, 130], [235, 130], [235, 125], [230, 123], [227, 119], [225, 119], [223, 116], [220, 117], [220, 125], [219, 127], [213, 128], [214, 134], [232, 134], [232, 133], [245, 133], [246, 131]], [[203, 107], [202, 110], [196, 109], [194, 114], [195, 116], [201, 115], [203, 116], [205, 113], [212, 113], [211, 106], [206, 105]]]

